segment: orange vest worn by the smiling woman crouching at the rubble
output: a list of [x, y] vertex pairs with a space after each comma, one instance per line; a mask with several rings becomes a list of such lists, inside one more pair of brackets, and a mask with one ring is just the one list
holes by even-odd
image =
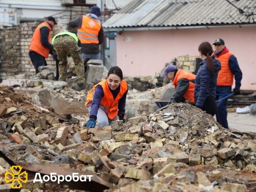
[[[108, 115], [108, 117], [110, 119], [113, 119], [117, 115], [117, 112], [118, 112], [118, 101], [123, 97], [124, 93], [128, 90], [127, 83], [124, 80], [121, 81], [120, 92], [117, 94], [115, 100], [112, 96], [111, 91], [109, 90], [107, 79], [104, 81], [101, 81], [98, 84], [100, 84], [102, 86], [103, 92], [104, 92], [104, 96], [102, 97], [102, 99], [100, 101], [100, 107], [104, 109], [105, 113]], [[88, 93], [87, 99], [85, 102], [86, 107], [89, 107], [92, 105], [93, 95], [94, 95], [96, 86], [98, 84], [94, 85], [92, 87], [91, 91]]]

